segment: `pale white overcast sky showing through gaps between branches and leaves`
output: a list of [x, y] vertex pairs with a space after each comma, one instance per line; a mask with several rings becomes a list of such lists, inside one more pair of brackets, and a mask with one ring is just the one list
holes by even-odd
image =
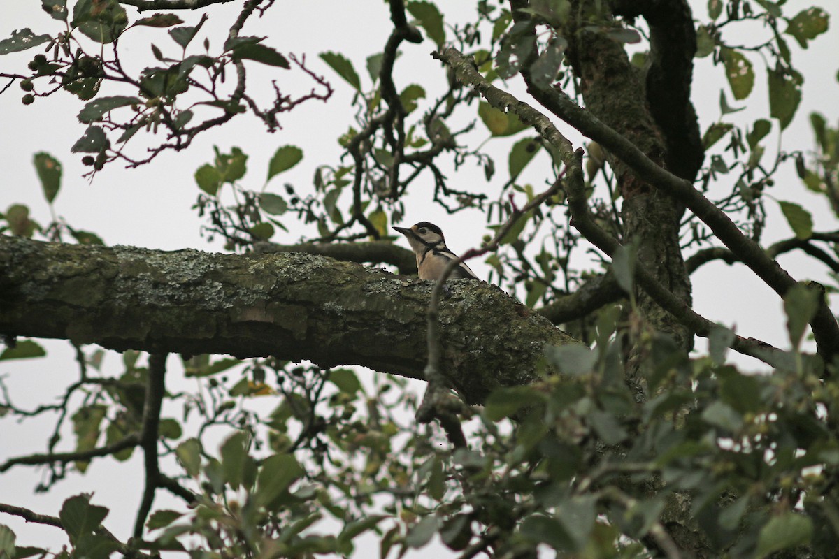
[[[692, 2], [696, 6], [696, 15], [702, 17], [706, 2]], [[826, 8], [832, 3], [823, 2]], [[461, 20], [471, 17], [472, 2], [440, 2], [446, 10], [454, 8], [462, 14]], [[810, 6], [800, 0], [790, 0], [785, 12], [792, 15], [799, 9]], [[238, 3], [212, 8], [206, 31], [211, 37], [224, 37], [226, 26], [231, 21], [230, 14], [237, 12]], [[134, 17], [132, 8], [128, 8], [129, 18]], [[363, 15], [361, 15], [363, 14]], [[195, 14], [180, 14], [187, 23], [197, 22]], [[313, 15], [315, 17], [313, 17]], [[835, 14], [834, 14], [835, 15]], [[364, 18], [362, 28], [359, 22]], [[10, 36], [13, 29], [31, 27], [36, 33], [55, 33], [60, 29], [58, 23], [51, 20], [40, 9], [40, 3], [4, 2], [0, 8], [0, 39]], [[335, 50], [345, 54], [355, 64], [367, 82], [365, 60], [368, 55], [380, 52], [389, 33], [388, 9], [381, 0], [365, 0], [347, 3], [329, 0], [309, 0], [307, 2], [278, 2], [269, 10], [263, 20], [248, 23], [243, 34], [268, 35], [268, 44], [281, 52], [305, 53], [310, 66], [325, 75], [336, 89], [336, 93], [327, 104], [312, 101], [299, 111], [288, 116], [281, 116], [284, 126], [282, 131], [273, 135], [264, 132], [262, 125], [249, 116], [234, 119], [220, 131], [200, 137], [185, 153], [165, 153], [154, 163], [142, 168], [126, 170], [118, 164], [112, 164], [96, 176], [92, 182], [81, 175], [88, 168], [81, 166], [80, 157], [70, 153], [70, 146], [81, 136], [84, 126], [76, 120], [81, 103], [75, 98], [59, 94], [48, 99], [39, 98], [31, 106], [23, 106], [20, 97], [23, 92], [17, 85], [0, 96], [0, 117], [3, 132], [0, 132], [0, 211], [10, 204], [29, 205], [35, 220], [46, 223], [50, 220], [48, 205], [40, 192], [39, 182], [32, 165], [32, 156], [39, 151], [51, 153], [64, 165], [64, 177], [60, 194], [55, 200], [55, 211], [64, 216], [71, 225], [95, 231], [108, 244], [146, 246], [164, 250], [176, 250], [194, 247], [201, 250], [221, 250], [221, 247], [208, 245], [199, 235], [201, 220], [190, 205], [195, 202], [198, 189], [193, 173], [202, 163], [211, 161], [212, 146], [218, 145], [222, 151], [229, 151], [233, 146], [241, 147], [250, 155], [249, 173], [243, 181], [248, 188], [261, 189], [268, 167], [268, 160], [274, 150], [284, 144], [294, 144], [304, 150], [302, 163], [287, 176], [277, 178], [270, 189], [281, 193], [284, 181], [291, 181], [303, 187], [310, 184], [315, 166], [321, 163], [336, 163], [340, 147], [335, 138], [352, 123], [350, 101], [352, 90], [340, 78], [323, 64], [317, 54], [326, 50]], [[133, 33], [137, 33], [136, 31]], [[154, 36], [154, 42], [161, 47], [170, 48], [169, 54], [175, 55], [165, 30], [143, 29], [143, 34]], [[748, 36], [744, 34], [743, 36]], [[148, 40], [148, 39], [147, 39]], [[216, 39], [221, 42], [221, 39]], [[746, 39], [738, 39], [745, 42]], [[839, 60], [839, 33], [831, 28], [827, 34], [816, 40], [808, 51], [800, 51], [795, 41], [789, 39], [794, 49], [795, 65], [805, 75], [804, 103], [800, 106], [795, 122], [784, 134], [784, 148], [810, 149], [812, 136], [805, 116], [810, 111], [821, 111], [828, 122], [836, 123], [839, 108], [839, 86], [836, 83], [836, 70]], [[128, 44], [126, 44], [128, 46]], [[148, 47], [129, 47], [128, 57], [136, 56], [142, 63], [153, 64], [147, 57]], [[415, 46], [405, 44], [403, 58], [397, 65], [396, 82], [398, 89], [414, 82], [422, 83], [428, 91], [440, 91], [439, 63], [432, 60], [428, 53], [433, 49], [430, 41]], [[22, 54], [0, 58], [3, 71], [18, 70], [25, 67], [28, 60], [39, 52], [31, 49]], [[141, 58], [142, 57], [142, 58]], [[748, 109], [737, 113], [737, 122], [749, 122], [758, 116], [764, 116], [766, 110], [765, 73], [763, 60], [750, 56], [757, 79], [755, 91], [748, 99]], [[21, 62], [22, 61], [22, 62]], [[15, 66], [20, 64], [20, 66]], [[249, 79], [263, 80], [268, 86], [268, 79], [276, 78], [283, 84], [283, 70], [270, 70], [259, 65], [248, 65]], [[701, 116], [703, 130], [720, 116], [718, 99], [720, 89], [727, 91], [732, 105], [743, 103], [732, 101], [730, 91], [722, 79], [722, 70], [711, 66], [710, 58], [697, 60], [693, 98]], [[274, 74], [271, 74], [274, 72]], [[305, 88], [309, 85], [306, 83]], [[513, 91], [521, 91], [518, 83], [512, 83]], [[75, 101], [74, 101], [75, 100]], [[731, 122], [732, 118], [728, 121]], [[568, 127], [560, 126], [568, 132]], [[767, 142], [774, 145], [773, 136]], [[481, 125], [477, 127], [476, 137], [486, 136]], [[576, 145], [579, 137], [569, 134]], [[770, 156], [770, 153], [766, 157]], [[503, 149], [498, 151], [497, 168], [499, 169], [492, 188], [496, 188], [507, 178], [506, 158]], [[529, 168], [531, 180], [539, 188], [541, 174], [538, 160]], [[458, 180], [483, 180], [477, 170], [464, 169], [456, 175]], [[479, 215], [451, 217], [430, 204], [432, 184], [426, 178], [418, 185], [416, 194], [412, 194], [406, 215], [408, 223], [418, 220], [430, 220], [440, 225], [447, 232], [450, 245], [456, 251], [465, 251], [470, 246], [480, 243], [485, 234]], [[795, 174], [785, 173], [778, 181], [772, 194], [778, 199], [787, 199], [805, 205], [814, 215], [816, 230], [836, 230], [839, 224], [826, 208], [823, 199], [803, 189]], [[770, 224], [765, 241], [771, 242], [791, 235], [788, 225], [779, 217], [774, 204], [768, 202]], [[274, 241], [296, 241], [300, 231], [288, 236], [279, 236]], [[790, 254], [783, 256], [781, 263], [796, 278], [814, 278], [824, 280], [818, 267], [812, 267], [801, 256]], [[479, 274], [486, 275], [486, 268], [472, 262], [470, 266]], [[780, 318], [780, 301], [768, 287], [754, 280], [737, 267], [709, 265], [703, 267], [693, 277], [696, 310], [706, 317], [733, 325], [736, 323], [739, 334], [764, 339], [781, 347], [786, 345], [783, 319]], [[48, 400], [60, 391], [69, 381], [74, 380], [76, 369], [72, 364], [72, 354], [66, 344], [49, 343], [49, 360], [34, 362], [3, 362], [0, 375], [4, 375], [13, 396], [21, 406], [34, 406]], [[175, 365], [175, 361], [170, 361]], [[115, 355], [107, 357], [106, 366], [111, 372], [118, 370]], [[0, 428], [0, 461], [9, 456], [44, 450], [46, 437], [52, 426], [49, 421], [37, 421], [18, 425], [4, 420]], [[70, 437], [65, 438], [69, 442]], [[37, 483], [38, 471], [33, 468], [13, 468], [0, 475], [0, 502], [27, 505], [33, 510], [46, 514], [55, 514], [65, 497], [82, 490], [96, 490], [96, 502], [115, 507], [107, 521], [109, 528], [117, 536], [127, 537], [133, 525], [133, 515], [139, 498], [136, 480], [140, 464], [136, 459], [124, 465], [93, 463], [88, 474], [63, 482], [50, 494], [31, 494]], [[157, 503], [156, 503], [157, 505]], [[60, 542], [60, 534], [53, 528], [24, 525], [18, 519], [3, 515], [0, 523], [13, 527], [18, 534], [19, 544], [53, 545]], [[418, 555], [423, 555], [421, 551]], [[433, 554], [435, 555], [435, 554]], [[428, 555], [431, 556], [431, 555]]]

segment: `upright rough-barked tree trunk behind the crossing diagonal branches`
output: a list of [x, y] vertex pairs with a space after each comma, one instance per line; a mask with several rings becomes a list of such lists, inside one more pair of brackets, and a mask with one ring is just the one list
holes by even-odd
[[[579, 0], [578, 4], [581, 13], [593, 9], [588, 0]], [[684, 8], [678, 2], [669, 3], [670, 8], [675, 8], [677, 4], [679, 9]], [[576, 12], [572, 10], [572, 13]], [[680, 154], [676, 153], [668, 155], [669, 145], [664, 131], [654, 117], [654, 113], [662, 111], [651, 111], [651, 105], [660, 107], [664, 104], [663, 100], [668, 99], [667, 91], [654, 89], [650, 95], [646, 86], [658, 88], [660, 83], [653, 81], [645, 85], [641, 70], [629, 62], [623, 44], [609, 38], [607, 34], [588, 31], [584, 26], [573, 26], [571, 33], [574, 39], [569, 41], [569, 54], [575, 73], [580, 77], [586, 109], [623, 134], [662, 167], [666, 167], [670, 159], [679, 157]], [[692, 27], [690, 33], [693, 33]], [[659, 54], [660, 50], [659, 47]], [[680, 91], [685, 88], [690, 91], [690, 71], [683, 78], [686, 81]], [[676, 97], [684, 106], [685, 96], [677, 93]], [[654, 101], [648, 102], [648, 99]], [[690, 103], [689, 99], [686, 101]], [[685, 111], [684, 107], [680, 111], [682, 126], [686, 118]], [[689, 112], [692, 114], [692, 107]], [[670, 114], [670, 111], [664, 113]], [[667, 136], [675, 137], [677, 128], [669, 123], [666, 127]], [[689, 163], [680, 164], [680, 168], [694, 168], [695, 155], [691, 155], [691, 158]], [[684, 210], [682, 204], [638, 179], [628, 165], [618, 158], [610, 158], [610, 164], [623, 194], [623, 242], [638, 243], [638, 261], [653, 272], [654, 277], [670, 292], [690, 305], [690, 277], [679, 246], [679, 220]], [[654, 329], [672, 335], [681, 347], [690, 348], [690, 332], [644, 292], [638, 293], [638, 308]]]

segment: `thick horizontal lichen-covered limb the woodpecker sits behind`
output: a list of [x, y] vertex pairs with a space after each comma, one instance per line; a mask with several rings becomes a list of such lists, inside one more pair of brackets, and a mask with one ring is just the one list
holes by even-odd
[[[222, 255], [0, 236], [0, 334], [122, 351], [276, 355], [423, 378], [432, 284], [300, 253]], [[441, 368], [467, 401], [572, 341], [498, 287], [451, 282]]]

